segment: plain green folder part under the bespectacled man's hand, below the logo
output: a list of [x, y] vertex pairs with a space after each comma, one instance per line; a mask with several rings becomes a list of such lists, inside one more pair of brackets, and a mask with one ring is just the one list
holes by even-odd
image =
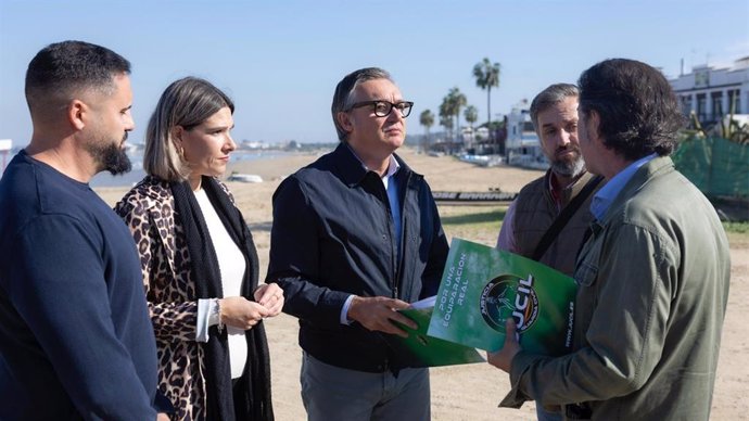
[[398, 358], [408, 367], [439, 367], [485, 361], [475, 348], [427, 335], [429, 321], [432, 318], [432, 307], [406, 308], [398, 311], [416, 321], [419, 328], [414, 330], [396, 322], [401, 329], [408, 332], [408, 337], [391, 334], [384, 336]]

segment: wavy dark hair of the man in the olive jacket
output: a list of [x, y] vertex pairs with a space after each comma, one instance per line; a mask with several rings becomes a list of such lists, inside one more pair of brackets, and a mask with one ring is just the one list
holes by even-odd
[[583, 72], [577, 87], [579, 110], [598, 114], [598, 135], [607, 148], [629, 161], [673, 152], [684, 116], [660, 71], [634, 60], [610, 59]]

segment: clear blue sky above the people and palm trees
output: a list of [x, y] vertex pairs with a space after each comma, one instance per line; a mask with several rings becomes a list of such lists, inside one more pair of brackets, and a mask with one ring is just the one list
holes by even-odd
[[0, 0], [0, 139], [27, 143], [26, 66], [65, 39], [132, 63], [132, 142], [142, 141], [163, 89], [187, 75], [234, 100], [237, 140], [330, 142], [333, 89], [356, 68], [390, 71], [416, 102], [408, 130], [421, 133], [419, 113], [436, 113], [453, 87], [486, 119], [486, 92], [471, 75], [484, 56], [502, 64], [495, 115], [608, 58], [670, 77], [682, 60], [686, 71], [728, 65], [749, 55], [749, 0]]

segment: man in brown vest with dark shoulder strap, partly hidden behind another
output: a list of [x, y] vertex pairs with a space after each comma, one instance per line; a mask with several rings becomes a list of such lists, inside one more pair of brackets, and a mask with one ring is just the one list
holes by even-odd
[[[533, 99], [531, 120], [550, 168], [520, 190], [507, 209], [497, 241], [498, 248], [536, 259], [566, 275], [574, 270], [575, 254], [593, 220], [591, 199], [602, 184], [585, 170], [580, 152], [577, 97], [574, 85], [556, 84]], [[572, 208], [562, 214], [568, 207]], [[544, 409], [536, 403], [541, 421], [561, 420], [560, 410]]]

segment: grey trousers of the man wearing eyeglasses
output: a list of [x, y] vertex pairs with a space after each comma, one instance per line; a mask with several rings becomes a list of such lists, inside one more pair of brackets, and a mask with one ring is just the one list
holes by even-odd
[[429, 369], [368, 373], [302, 356], [302, 401], [308, 421], [429, 421]]

